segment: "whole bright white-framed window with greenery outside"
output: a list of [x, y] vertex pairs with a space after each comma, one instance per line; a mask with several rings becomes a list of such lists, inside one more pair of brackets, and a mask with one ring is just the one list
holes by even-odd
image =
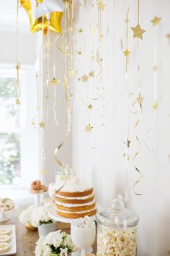
[[[34, 72], [34, 67], [25, 67], [19, 72], [22, 101], [19, 106], [15, 104], [16, 70], [14, 67], [0, 69], [0, 187], [29, 186], [29, 182], [37, 178], [38, 131], [31, 126], [36, 98]], [[27, 106], [30, 97], [32, 104]]]

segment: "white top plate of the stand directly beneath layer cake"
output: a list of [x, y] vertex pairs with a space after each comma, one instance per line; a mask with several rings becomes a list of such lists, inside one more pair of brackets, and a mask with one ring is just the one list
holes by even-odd
[[[55, 205], [54, 204], [50, 204], [48, 206], [48, 214], [49, 214], [50, 218], [52, 218], [54, 221], [60, 221], [60, 222], [63, 222], [63, 223], [71, 223], [72, 221], [75, 221], [75, 218], [65, 218], [65, 217], [59, 216], [58, 213], [55, 210]], [[90, 216], [90, 218], [94, 221], [96, 220], [95, 215]]]

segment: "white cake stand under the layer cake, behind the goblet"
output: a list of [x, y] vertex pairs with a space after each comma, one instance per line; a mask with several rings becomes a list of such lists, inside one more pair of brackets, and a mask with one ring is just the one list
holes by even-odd
[[[54, 221], [60, 221], [63, 223], [71, 223], [72, 221], [75, 221], [75, 218], [65, 218], [62, 216], [59, 216], [58, 213], [56, 212], [55, 209], [55, 205], [54, 204], [50, 204], [48, 206], [48, 215], [50, 216], [50, 218], [52, 218]], [[96, 216], [90, 216], [92, 221], [96, 221]], [[93, 252], [93, 248], [89, 247], [88, 249], [86, 249], [86, 254], [90, 254]], [[71, 254], [72, 256], [80, 256], [81, 255], [81, 249], [77, 249], [76, 252], [72, 252]]]

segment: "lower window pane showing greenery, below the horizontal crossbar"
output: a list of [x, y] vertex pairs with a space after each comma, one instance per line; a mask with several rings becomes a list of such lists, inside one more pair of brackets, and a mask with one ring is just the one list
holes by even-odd
[[20, 135], [0, 134], [0, 185], [15, 184], [20, 177]]

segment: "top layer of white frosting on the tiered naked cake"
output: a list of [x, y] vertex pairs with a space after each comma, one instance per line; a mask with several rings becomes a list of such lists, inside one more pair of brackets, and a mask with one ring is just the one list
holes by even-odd
[[62, 192], [84, 192], [92, 188], [93, 186], [91, 184], [82, 182], [79, 179], [68, 179], [67, 181], [57, 180], [54, 186], [55, 190], [61, 189]]

